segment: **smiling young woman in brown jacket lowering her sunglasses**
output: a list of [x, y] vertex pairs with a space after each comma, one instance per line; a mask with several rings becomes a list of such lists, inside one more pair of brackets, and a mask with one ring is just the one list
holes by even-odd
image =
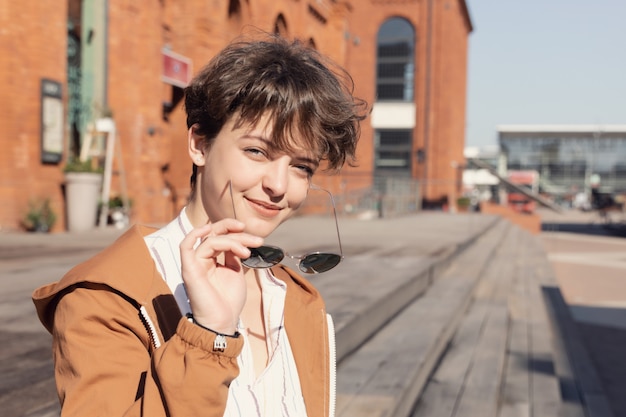
[[321, 165], [354, 158], [364, 103], [330, 68], [298, 42], [237, 42], [187, 87], [187, 206], [33, 295], [63, 416], [332, 415], [323, 300], [262, 246]]

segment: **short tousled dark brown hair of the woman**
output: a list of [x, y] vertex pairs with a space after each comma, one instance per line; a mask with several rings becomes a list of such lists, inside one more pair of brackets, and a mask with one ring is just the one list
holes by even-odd
[[[289, 150], [296, 131], [328, 169], [337, 170], [354, 164], [359, 124], [366, 117], [367, 104], [353, 90], [345, 70], [299, 40], [239, 40], [185, 89], [187, 127], [196, 125], [210, 146], [231, 117], [240, 126], [269, 113], [275, 149]], [[194, 181], [195, 174], [192, 187]]]

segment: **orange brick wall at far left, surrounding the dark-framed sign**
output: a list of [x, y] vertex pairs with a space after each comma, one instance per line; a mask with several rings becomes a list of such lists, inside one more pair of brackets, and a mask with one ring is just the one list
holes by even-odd
[[0, 2], [0, 231], [44, 198], [64, 227], [62, 173], [41, 163], [40, 91], [42, 78], [65, 84], [66, 15], [64, 2]]

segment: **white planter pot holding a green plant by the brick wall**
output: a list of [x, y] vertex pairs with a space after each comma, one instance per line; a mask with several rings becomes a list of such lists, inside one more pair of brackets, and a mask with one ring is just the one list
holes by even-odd
[[96, 227], [102, 174], [92, 172], [65, 173], [67, 229], [84, 232]]

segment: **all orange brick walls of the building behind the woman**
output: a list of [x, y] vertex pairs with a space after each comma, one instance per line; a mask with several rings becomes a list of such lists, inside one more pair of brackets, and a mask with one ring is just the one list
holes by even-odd
[[[163, 119], [163, 102], [177, 92], [161, 81], [161, 49], [187, 56], [198, 71], [226, 43], [251, 26], [273, 32], [277, 20], [288, 37], [310, 40], [352, 74], [356, 94], [374, 101], [376, 33], [391, 16], [405, 16], [418, 33], [415, 147], [424, 145], [425, 114], [431, 120], [428, 178], [449, 179], [450, 159], [462, 157], [468, 27], [462, 0], [432, 0], [435, 57], [429, 112], [425, 111], [426, 10], [429, 0], [240, 1], [230, 15], [228, 1], [109, 0], [107, 99], [114, 112], [122, 159], [114, 162], [113, 195], [122, 191], [124, 168], [133, 222], [161, 224], [185, 204], [191, 163], [186, 150], [182, 103]], [[70, 2], [76, 6], [76, 1]], [[72, 13], [76, 15], [75, 8]], [[68, 2], [0, 3], [0, 230], [16, 229], [30, 198], [50, 197], [64, 230], [61, 165], [40, 162], [40, 79], [61, 81], [66, 91]], [[439, 28], [439, 29], [437, 29]], [[66, 97], [66, 95], [65, 95]], [[438, 153], [441, 153], [439, 155]], [[359, 166], [318, 183], [338, 190], [371, 180], [373, 130], [363, 125]], [[416, 172], [417, 177], [420, 173]], [[423, 175], [421, 175], [423, 177]], [[446, 193], [433, 188], [432, 193]]]

